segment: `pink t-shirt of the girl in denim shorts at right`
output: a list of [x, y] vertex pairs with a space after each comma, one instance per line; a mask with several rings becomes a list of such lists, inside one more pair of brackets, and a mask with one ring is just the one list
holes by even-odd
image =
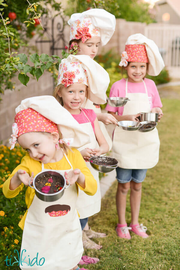
[[[149, 104], [151, 109], [155, 107], [161, 108], [163, 105], [161, 103], [161, 99], [158, 93], [158, 89], [155, 85], [155, 82], [153, 80], [144, 79], [144, 82], [146, 83], [146, 88], [148, 92], [148, 98], [149, 98]], [[144, 83], [131, 83], [128, 82], [128, 93], [146, 93]], [[110, 97], [125, 97], [126, 95], [126, 80], [118, 80], [117, 82], [113, 83], [110, 90]], [[124, 106], [123, 107], [112, 107], [107, 104], [105, 110], [112, 111], [112, 112], [118, 112], [118, 115], [122, 115]]]

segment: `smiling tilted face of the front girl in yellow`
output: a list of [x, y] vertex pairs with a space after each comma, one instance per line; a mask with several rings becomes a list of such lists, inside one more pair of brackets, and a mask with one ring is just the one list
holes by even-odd
[[46, 164], [61, 159], [62, 152], [55, 148], [58, 138], [57, 132], [27, 132], [19, 136], [18, 143], [28, 151], [32, 159]]

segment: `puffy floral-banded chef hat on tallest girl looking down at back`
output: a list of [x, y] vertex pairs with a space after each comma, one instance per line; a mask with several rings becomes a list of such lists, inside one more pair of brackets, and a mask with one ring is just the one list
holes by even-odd
[[70, 25], [70, 41], [81, 39], [84, 43], [93, 36], [101, 37], [104, 46], [112, 37], [116, 18], [113, 14], [101, 8], [93, 8], [82, 13], [74, 13], [67, 22]]

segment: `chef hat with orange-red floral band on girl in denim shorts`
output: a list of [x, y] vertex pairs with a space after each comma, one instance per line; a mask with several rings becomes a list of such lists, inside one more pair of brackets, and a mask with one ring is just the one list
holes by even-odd
[[126, 67], [128, 62], [148, 63], [147, 73], [151, 76], [157, 76], [164, 68], [164, 61], [153, 40], [142, 34], [134, 34], [128, 37], [125, 45], [120, 66]]

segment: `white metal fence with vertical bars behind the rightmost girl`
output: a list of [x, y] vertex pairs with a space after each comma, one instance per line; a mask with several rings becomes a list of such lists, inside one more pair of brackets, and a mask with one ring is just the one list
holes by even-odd
[[158, 45], [166, 66], [180, 67], [180, 25], [148, 25], [145, 35]]

